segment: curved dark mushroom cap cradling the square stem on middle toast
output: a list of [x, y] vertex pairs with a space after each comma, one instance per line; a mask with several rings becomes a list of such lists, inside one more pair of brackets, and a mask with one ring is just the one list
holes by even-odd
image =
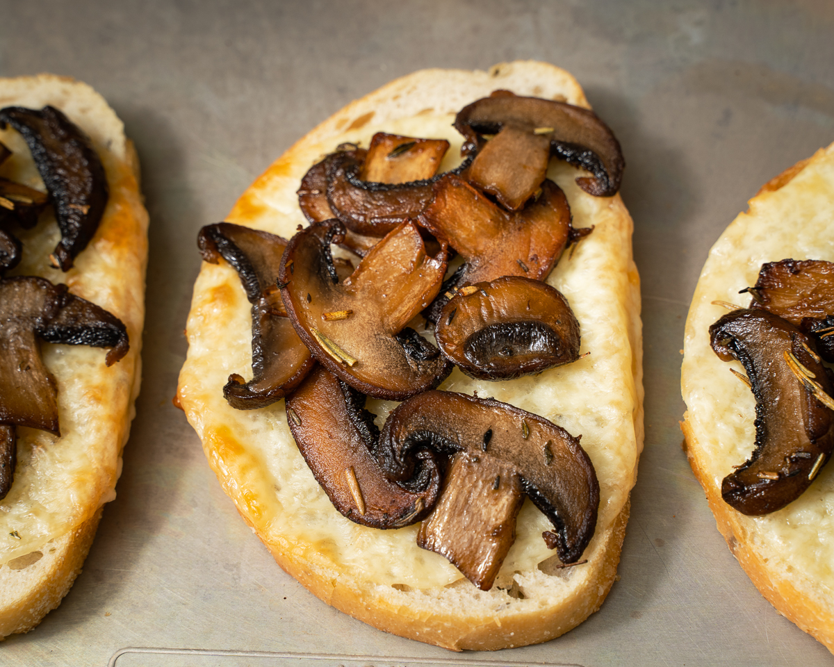
[[346, 228], [382, 237], [416, 218], [434, 197], [429, 181], [370, 183], [359, 179], [366, 151], [336, 153], [327, 171], [327, 200]]

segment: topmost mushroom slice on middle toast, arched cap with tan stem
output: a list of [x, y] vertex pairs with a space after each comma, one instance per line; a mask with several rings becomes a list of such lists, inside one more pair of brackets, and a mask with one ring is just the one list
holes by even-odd
[[[466, 138], [462, 153], [480, 148], [470, 181], [512, 210], [539, 188], [550, 154], [594, 174], [576, 178], [586, 193], [611, 197], [620, 188], [620, 143], [590, 109], [495, 91], [461, 109], [455, 129]], [[485, 134], [496, 136], [484, 145]]]

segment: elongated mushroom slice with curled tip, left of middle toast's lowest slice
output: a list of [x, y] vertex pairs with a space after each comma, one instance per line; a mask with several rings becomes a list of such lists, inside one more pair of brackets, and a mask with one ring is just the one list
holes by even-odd
[[330, 502], [354, 523], [402, 528], [434, 507], [440, 477], [409, 491], [389, 481], [374, 457], [379, 429], [365, 397], [321, 366], [287, 397], [287, 423]]

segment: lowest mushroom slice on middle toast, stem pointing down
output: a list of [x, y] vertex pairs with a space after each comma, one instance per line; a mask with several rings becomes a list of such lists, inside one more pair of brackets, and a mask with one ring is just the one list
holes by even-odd
[[449, 458], [420, 546], [488, 590], [515, 540], [515, 515], [527, 494], [555, 526], [545, 535], [562, 562], [580, 558], [594, 534], [600, 486], [579, 439], [512, 405], [451, 392], [420, 394], [390, 414], [378, 450], [389, 479], [431, 479], [425, 469]]

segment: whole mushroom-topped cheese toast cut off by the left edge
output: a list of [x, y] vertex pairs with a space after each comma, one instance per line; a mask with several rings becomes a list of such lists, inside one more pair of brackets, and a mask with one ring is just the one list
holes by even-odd
[[0, 637], [60, 604], [115, 498], [139, 388], [138, 163], [86, 84], [0, 79]]

